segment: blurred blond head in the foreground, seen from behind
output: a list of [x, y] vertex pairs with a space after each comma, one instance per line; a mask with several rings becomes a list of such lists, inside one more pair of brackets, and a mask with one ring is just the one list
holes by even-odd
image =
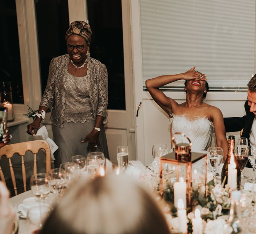
[[47, 234], [170, 234], [155, 199], [132, 178], [79, 181], [47, 219]]

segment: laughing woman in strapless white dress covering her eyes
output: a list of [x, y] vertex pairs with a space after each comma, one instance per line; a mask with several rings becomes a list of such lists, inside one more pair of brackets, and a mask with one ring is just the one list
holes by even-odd
[[[185, 80], [186, 101], [178, 104], [159, 87], [182, 79]], [[172, 134], [182, 132], [190, 138], [191, 151], [206, 151], [211, 135], [215, 132], [216, 146], [223, 149], [224, 157], [227, 155], [228, 142], [223, 115], [217, 107], [203, 102], [209, 89], [205, 74], [195, 71], [194, 66], [185, 73], [161, 75], [146, 80], [146, 87], [155, 102], [170, 116]]]

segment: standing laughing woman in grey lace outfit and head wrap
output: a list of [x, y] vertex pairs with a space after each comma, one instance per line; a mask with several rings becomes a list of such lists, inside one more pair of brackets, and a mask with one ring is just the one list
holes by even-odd
[[[87, 56], [91, 28], [84, 21], [71, 23], [65, 36], [68, 54], [52, 59], [47, 86], [39, 113], [50, 112], [55, 166], [70, 161], [72, 155], [87, 156], [101, 151], [109, 158], [103, 125], [107, 122], [107, 69]], [[36, 134], [42, 118], [28, 125], [28, 134]]]

